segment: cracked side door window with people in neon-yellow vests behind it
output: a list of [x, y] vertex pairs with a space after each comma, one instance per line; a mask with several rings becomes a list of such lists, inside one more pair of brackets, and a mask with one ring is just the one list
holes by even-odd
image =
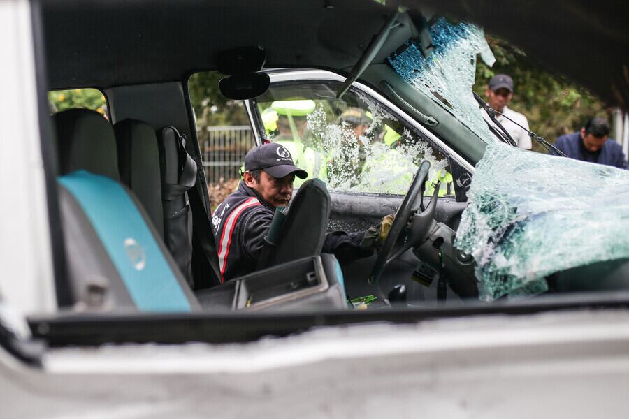
[[[419, 163], [431, 162], [426, 193], [442, 181], [454, 195], [448, 159], [416, 129], [356, 89], [336, 98], [338, 82], [275, 85], [258, 98], [266, 138], [333, 191], [403, 195]], [[296, 186], [303, 181], [296, 179]]]

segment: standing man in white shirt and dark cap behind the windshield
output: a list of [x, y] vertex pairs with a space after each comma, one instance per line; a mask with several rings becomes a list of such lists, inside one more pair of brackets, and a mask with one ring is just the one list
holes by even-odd
[[506, 74], [493, 76], [493, 78], [489, 80], [485, 96], [487, 97], [489, 107], [504, 115], [496, 114], [496, 119], [505, 127], [518, 147], [530, 150], [531, 144], [528, 133], [509, 120], [513, 119], [517, 124], [520, 124], [527, 130], [529, 129], [528, 120], [524, 115], [507, 108], [507, 105], [509, 105], [509, 102], [511, 102], [513, 98], [513, 79]]

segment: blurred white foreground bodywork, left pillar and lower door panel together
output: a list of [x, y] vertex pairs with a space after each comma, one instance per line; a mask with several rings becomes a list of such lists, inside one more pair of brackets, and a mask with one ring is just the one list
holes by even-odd
[[[29, 9], [0, 1], [0, 295], [24, 338], [56, 310]], [[619, 418], [627, 388], [629, 310], [612, 307], [49, 348], [39, 367], [0, 348], [3, 418]]]

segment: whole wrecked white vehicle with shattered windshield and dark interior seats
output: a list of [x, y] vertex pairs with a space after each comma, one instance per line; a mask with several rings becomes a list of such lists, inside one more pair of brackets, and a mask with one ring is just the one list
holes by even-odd
[[[514, 3], [1, 1], [7, 415], [625, 411], [629, 172], [534, 133], [548, 155], [514, 147], [472, 84], [493, 61], [483, 25], [626, 107], [628, 9], [544, 4], [605, 45], [607, 66], [577, 71], [542, 6]], [[310, 178], [264, 263], [225, 284], [189, 91], [201, 71]], [[83, 88], [105, 115], [50, 112], [49, 91]], [[391, 213], [372, 257], [321, 253], [327, 231]]]

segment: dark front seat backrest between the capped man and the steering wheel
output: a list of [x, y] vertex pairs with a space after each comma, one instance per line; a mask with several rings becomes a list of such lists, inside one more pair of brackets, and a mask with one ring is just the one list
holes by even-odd
[[330, 210], [325, 182], [317, 178], [304, 182], [293, 198], [275, 246], [257, 269], [321, 254]]

